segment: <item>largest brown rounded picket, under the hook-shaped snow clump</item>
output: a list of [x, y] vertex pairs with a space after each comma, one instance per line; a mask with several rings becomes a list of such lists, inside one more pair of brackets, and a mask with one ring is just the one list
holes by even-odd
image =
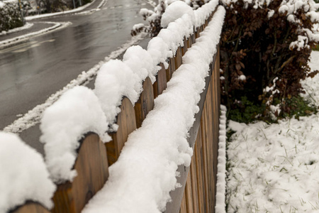
[[89, 133], [82, 141], [74, 169], [77, 170], [74, 180], [57, 186], [52, 212], [81, 212], [105, 184], [108, 178], [106, 148], [95, 133]]

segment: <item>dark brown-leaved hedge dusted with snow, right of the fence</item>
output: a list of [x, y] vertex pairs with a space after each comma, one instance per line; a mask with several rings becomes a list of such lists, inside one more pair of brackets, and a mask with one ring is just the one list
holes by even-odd
[[237, 100], [245, 96], [262, 105], [262, 119], [272, 119], [271, 105], [278, 102], [281, 113], [276, 116], [290, 114], [287, 103], [303, 91], [300, 81], [308, 76], [311, 48], [319, 43], [319, 4], [313, 0], [221, 2], [227, 9], [220, 42], [225, 77], [222, 102], [242, 110], [245, 106]]

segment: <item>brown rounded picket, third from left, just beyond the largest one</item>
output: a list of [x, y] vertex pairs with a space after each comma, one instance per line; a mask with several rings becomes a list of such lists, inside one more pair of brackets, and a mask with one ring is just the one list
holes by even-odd
[[136, 129], [135, 110], [130, 99], [124, 97], [120, 109], [121, 112], [116, 118], [118, 130], [109, 133], [112, 141], [105, 143], [108, 165], [112, 165], [118, 160], [124, 144], [128, 141], [128, 135]]

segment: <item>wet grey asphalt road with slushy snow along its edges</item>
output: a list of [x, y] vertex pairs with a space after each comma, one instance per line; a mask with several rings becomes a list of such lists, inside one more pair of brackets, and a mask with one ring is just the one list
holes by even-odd
[[[143, 22], [141, 8], [152, 7], [142, 0], [108, 0], [89, 15], [37, 19], [72, 25], [0, 50], [0, 129], [130, 40], [132, 26]], [[42, 153], [39, 133], [37, 125], [20, 136]]]

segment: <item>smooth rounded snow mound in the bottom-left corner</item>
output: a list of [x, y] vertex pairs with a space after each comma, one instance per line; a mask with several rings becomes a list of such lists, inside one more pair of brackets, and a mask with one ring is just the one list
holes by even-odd
[[0, 212], [9, 212], [28, 200], [52, 207], [55, 185], [42, 155], [13, 133], [0, 131], [0, 170]]

